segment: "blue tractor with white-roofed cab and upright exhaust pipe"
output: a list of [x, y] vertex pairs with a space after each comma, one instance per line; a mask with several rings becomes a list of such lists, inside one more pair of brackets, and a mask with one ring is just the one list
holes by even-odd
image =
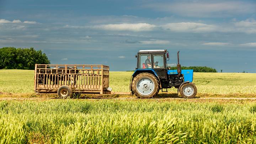
[[193, 70], [181, 70], [177, 53], [177, 70], [169, 70], [167, 50], [140, 50], [137, 58], [137, 68], [132, 75], [130, 90], [139, 98], [153, 98], [159, 92], [175, 87], [184, 98], [193, 98], [197, 88], [192, 83]]

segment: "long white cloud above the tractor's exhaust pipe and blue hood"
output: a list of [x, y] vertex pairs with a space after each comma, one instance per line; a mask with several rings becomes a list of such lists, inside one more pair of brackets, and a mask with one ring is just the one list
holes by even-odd
[[180, 23], [167, 23], [161, 26], [164, 30], [174, 32], [213, 32], [218, 31], [218, 26], [207, 25], [204, 23], [194, 22], [180, 22]]

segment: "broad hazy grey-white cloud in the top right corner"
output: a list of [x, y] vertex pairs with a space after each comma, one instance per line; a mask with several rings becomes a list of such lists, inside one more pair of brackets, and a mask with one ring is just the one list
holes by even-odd
[[188, 17], [229, 17], [254, 14], [255, 4], [243, 1], [186, 1], [146, 4], [144, 7]]

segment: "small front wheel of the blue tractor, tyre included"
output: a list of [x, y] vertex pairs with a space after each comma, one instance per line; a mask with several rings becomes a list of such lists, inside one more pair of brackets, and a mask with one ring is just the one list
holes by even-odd
[[180, 94], [184, 98], [193, 98], [197, 94], [197, 87], [192, 82], [185, 83], [180, 87]]

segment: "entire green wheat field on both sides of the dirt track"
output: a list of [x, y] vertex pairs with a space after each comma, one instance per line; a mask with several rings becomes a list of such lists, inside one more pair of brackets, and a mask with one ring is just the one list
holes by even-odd
[[[0, 97], [34, 95], [33, 74], [0, 70]], [[113, 91], [129, 91], [131, 74], [110, 72]], [[200, 97], [256, 96], [256, 74], [194, 73], [193, 82]], [[256, 143], [256, 100], [0, 100], [0, 143]]]

